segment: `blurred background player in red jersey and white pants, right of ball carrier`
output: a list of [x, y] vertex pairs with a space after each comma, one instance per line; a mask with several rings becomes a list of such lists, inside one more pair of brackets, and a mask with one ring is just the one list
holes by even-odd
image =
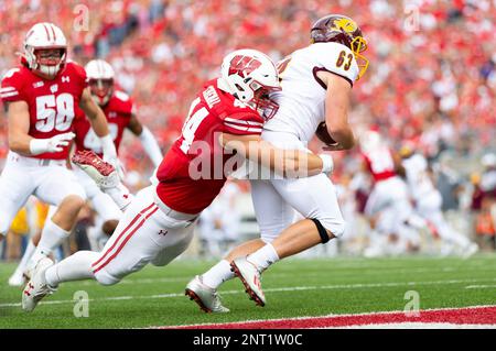
[[[413, 215], [401, 158], [393, 153], [374, 130], [360, 136], [360, 153], [365, 167], [374, 179], [373, 190], [365, 206], [373, 232], [366, 256], [400, 254], [420, 246], [419, 222]], [[414, 226], [418, 224], [418, 226]]]

